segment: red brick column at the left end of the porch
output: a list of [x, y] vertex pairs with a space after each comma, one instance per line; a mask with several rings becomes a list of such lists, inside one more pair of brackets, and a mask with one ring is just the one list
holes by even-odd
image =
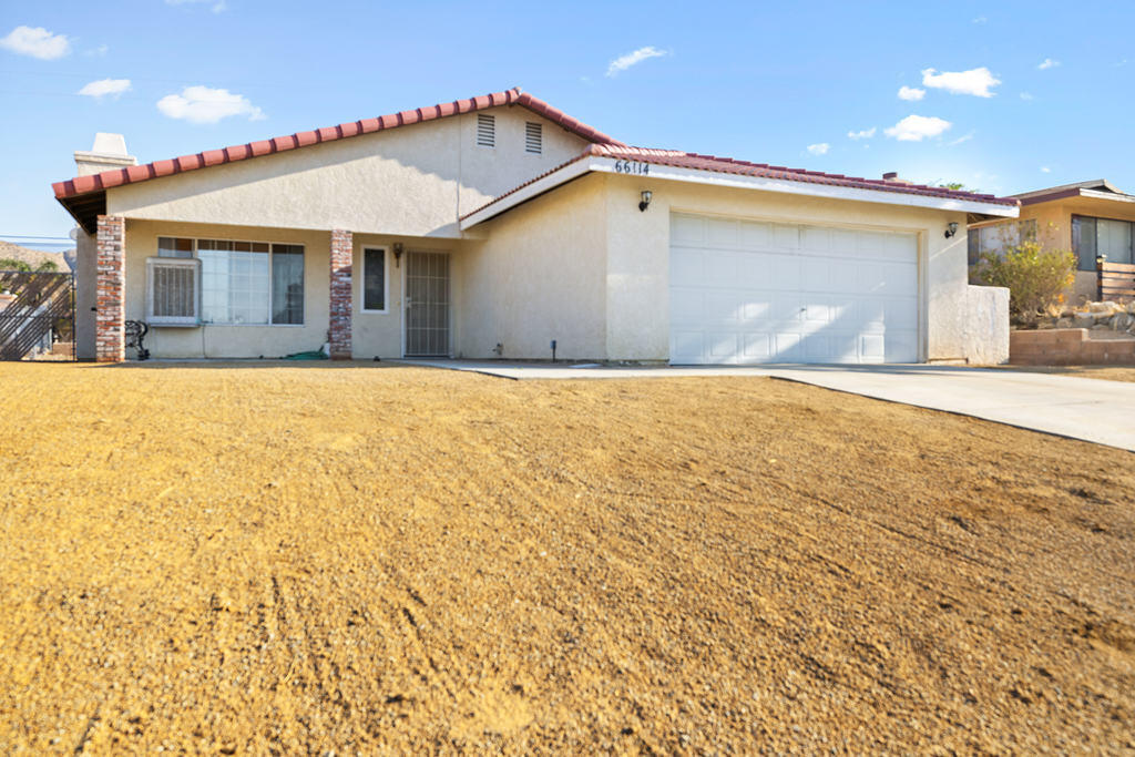
[[94, 356], [100, 363], [126, 360], [126, 219], [99, 216], [95, 249]]

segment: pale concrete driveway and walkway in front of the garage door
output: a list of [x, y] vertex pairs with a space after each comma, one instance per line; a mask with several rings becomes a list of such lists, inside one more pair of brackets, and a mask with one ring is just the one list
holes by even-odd
[[1135, 452], [1135, 384], [952, 365], [572, 367], [404, 361], [516, 380], [770, 376]]

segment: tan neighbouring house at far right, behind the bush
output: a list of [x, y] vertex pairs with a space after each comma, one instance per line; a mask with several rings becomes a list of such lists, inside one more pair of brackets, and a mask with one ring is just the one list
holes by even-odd
[[1020, 201], [1019, 220], [970, 225], [970, 263], [982, 252], [1000, 251], [1023, 237], [1037, 238], [1045, 246], [1075, 253], [1076, 281], [1070, 294], [1087, 300], [1096, 295], [1096, 255], [1112, 263], [1135, 263], [1135, 194], [1095, 179], [1012, 196]]

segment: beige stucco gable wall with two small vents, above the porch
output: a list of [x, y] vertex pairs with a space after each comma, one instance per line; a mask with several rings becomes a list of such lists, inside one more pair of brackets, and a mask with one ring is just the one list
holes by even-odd
[[[107, 192], [134, 219], [356, 234], [460, 237], [457, 218], [578, 155], [586, 142], [519, 106], [493, 108], [496, 146], [476, 144], [477, 113], [301, 148]], [[524, 151], [524, 124], [544, 151]]]

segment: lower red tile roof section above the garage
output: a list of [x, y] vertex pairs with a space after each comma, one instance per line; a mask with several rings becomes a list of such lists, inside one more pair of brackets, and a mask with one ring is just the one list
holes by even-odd
[[880, 192], [896, 192], [900, 194], [917, 194], [930, 197], [943, 197], [949, 200], [968, 200], [970, 202], [987, 202], [998, 205], [1017, 207], [1020, 203], [1015, 197], [998, 197], [992, 194], [977, 194], [975, 192], [961, 192], [959, 190], [947, 190], [939, 186], [927, 186], [924, 184], [908, 184], [906, 182], [894, 182], [886, 179], [859, 178], [856, 176], [843, 176], [842, 174], [823, 174], [821, 171], [809, 171], [800, 168], [784, 168], [782, 166], [768, 166], [767, 163], [750, 163], [734, 158], [718, 158], [716, 155], [700, 155], [695, 152], [683, 152], [681, 150], [655, 150], [650, 148], [632, 148], [616, 144], [591, 144], [582, 153], [572, 158], [568, 162], [556, 166], [552, 170], [536, 176], [520, 186], [508, 190], [485, 203], [480, 208], [472, 210], [461, 217], [461, 220], [478, 213], [489, 205], [496, 204], [505, 197], [520, 192], [526, 186], [535, 184], [541, 178], [549, 176], [557, 170], [579, 162], [585, 158], [623, 158], [637, 160], [651, 166], [672, 166], [674, 168], [692, 168], [698, 170], [716, 171], [720, 174], [735, 174], [738, 176], [757, 176], [763, 178], [779, 179], [783, 182], [806, 182], [809, 184], [827, 184], [830, 186], [846, 186], [856, 190], [876, 190]]

